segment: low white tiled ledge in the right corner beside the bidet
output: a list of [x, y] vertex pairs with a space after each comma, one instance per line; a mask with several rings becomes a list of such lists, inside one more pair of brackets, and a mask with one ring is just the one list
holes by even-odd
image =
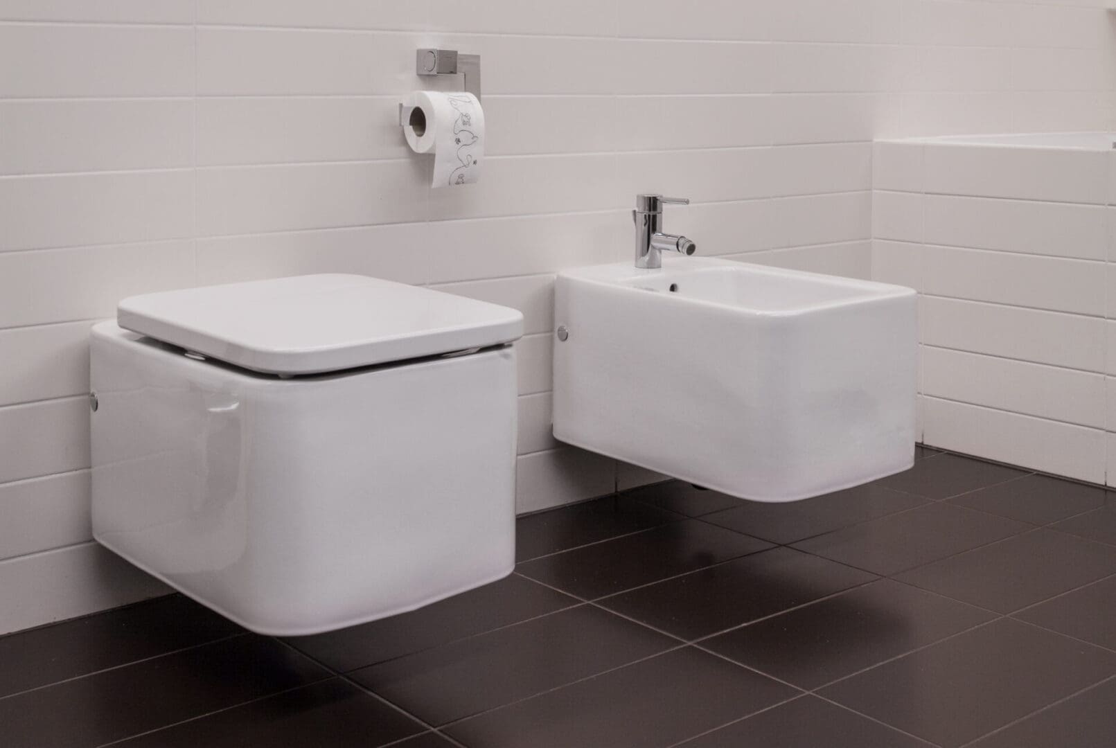
[[1116, 485], [1116, 155], [884, 142], [873, 275], [921, 298], [923, 440]]

